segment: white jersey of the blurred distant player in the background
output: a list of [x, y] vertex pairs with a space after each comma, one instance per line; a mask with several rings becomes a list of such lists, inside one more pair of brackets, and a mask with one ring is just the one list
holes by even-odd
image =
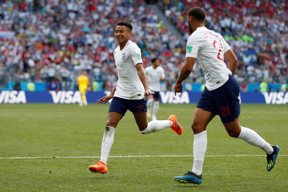
[[153, 66], [149, 66], [145, 68], [145, 73], [147, 75], [147, 79], [148, 79], [149, 87], [151, 91], [154, 91], [154, 92], [161, 91], [160, 77], [162, 78], [165, 77], [164, 69], [160, 66], [158, 66], [156, 69], [154, 69]]

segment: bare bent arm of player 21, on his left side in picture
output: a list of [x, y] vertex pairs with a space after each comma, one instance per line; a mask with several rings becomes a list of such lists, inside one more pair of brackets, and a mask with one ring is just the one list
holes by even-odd
[[183, 91], [183, 85], [182, 85], [182, 81], [185, 80], [191, 73], [194, 63], [195, 63], [196, 58], [194, 57], [186, 57], [185, 58], [185, 62], [184, 62], [184, 66], [182, 67], [181, 71], [180, 71], [180, 75], [178, 77], [178, 79], [176, 80], [174, 89], [175, 89], [175, 96], [176, 93], [182, 93]]

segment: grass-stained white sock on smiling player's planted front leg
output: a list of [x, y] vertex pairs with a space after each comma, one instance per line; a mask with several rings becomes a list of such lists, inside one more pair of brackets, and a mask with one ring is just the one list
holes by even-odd
[[101, 158], [100, 161], [107, 164], [108, 155], [114, 141], [114, 127], [105, 126], [104, 136], [101, 145]]

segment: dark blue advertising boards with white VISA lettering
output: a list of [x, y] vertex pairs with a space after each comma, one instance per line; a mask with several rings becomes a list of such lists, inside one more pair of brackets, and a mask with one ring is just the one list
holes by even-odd
[[[96, 103], [97, 100], [110, 91], [88, 92], [88, 103]], [[175, 96], [173, 91], [160, 91], [161, 103], [197, 103], [201, 92], [183, 91]], [[266, 103], [288, 104], [288, 92], [265, 93], [240, 93], [241, 103]], [[81, 94], [79, 91], [0, 91], [0, 103], [79, 103]]]

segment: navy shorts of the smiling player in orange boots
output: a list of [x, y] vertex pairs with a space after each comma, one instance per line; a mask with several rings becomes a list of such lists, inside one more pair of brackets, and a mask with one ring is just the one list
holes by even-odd
[[131, 100], [113, 97], [109, 107], [109, 112], [117, 112], [125, 115], [127, 110], [131, 111], [133, 114], [142, 111], [147, 112], [147, 102], [144, 99]]

